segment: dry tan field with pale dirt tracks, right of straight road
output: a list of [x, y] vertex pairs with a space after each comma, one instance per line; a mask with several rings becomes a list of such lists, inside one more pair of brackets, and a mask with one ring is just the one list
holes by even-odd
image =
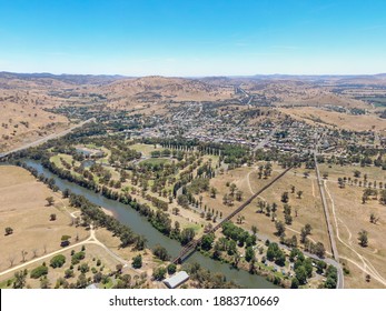
[[[378, 279], [380, 287], [386, 287], [386, 209], [377, 200], [362, 203], [363, 189], [347, 185], [340, 189], [336, 183], [327, 183], [327, 198], [339, 257], [346, 259], [350, 267], [355, 265], [362, 271], [370, 273]], [[370, 213], [379, 217], [374, 224], [369, 221]], [[368, 232], [368, 247], [358, 244], [358, 232]], [[354, 281], [355, 284], [355, 281]]]

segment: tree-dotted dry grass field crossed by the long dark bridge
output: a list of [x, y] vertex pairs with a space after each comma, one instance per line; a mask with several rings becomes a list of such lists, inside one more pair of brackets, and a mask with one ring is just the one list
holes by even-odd
[[[261, 163], [257, 163], [261, 164]], [[274, 164], [273, 177], [279, 174], [283, 170]], [[257, 192], [264, 187], [269, 179], [258, 179], [257, 169], [255, 167], [243, 167], [224, 173], [218, 174], [210, 180], [210, 185], [218, 190], [216, 198], [210, 198], [209, 193], [202, 193], [202, 207], [207, 204], [208, 208], [219, 211], [222, 215], [229, 214], [234, 209], [238, 208], [246, 199]], [[222, 197], [225, 193], [229, 193], [227, 182], [235, 183], [237, 189], [243, 191], [243, 200], [240, 202], [235, 201], [232, 207], [226, 207], [222, 203]], [[295, 193], [291, 192], [291, 185], [296, 185]], [[301, 190], [301, 199], [297, 198], [296, 192]], [[305, 179], [303, 177], [303, 170], [289, 171], [285, 177], [278, 180], [274, 185], [265, 190], [258, 199], [255, 199], [248, 207], [241, 211], [240, 215], [245, 217], [245, 220], [240, 224], [246, 230], [250, 230], [253, 225], [256, 225], [259, 230], [260, 237], [269, 238], [270, 240], [278, 240], [274, 234], [276, 231], [275, 222], [271, 218], [264, 213], [259, 213], [257, 203], [259, 200], [266, 201], [269, 204], [276, 203], [278, 210], [276, 212], [277, 219], [284, 221], [283, 202], [280, 202], [281, 193], [289, 192], [289, 204], [291, 205], [291, 215], [294, 218], [293, 224], [287, 225], [287, 237], [297, 235], [299, 240], [299, 233], [301, 228], [309, 223], [313, 227], [313, 233], [309, 237], [315, 242], [323, 242], [327, 251], [329, 250], [328, 235], [326, 223], [324, 221], [324, 213], [321, 209], [321, 201], [319, 191], [314, 179]], [[297, 212], [297, 217], [296, 217]], [[237, 218], [232, 219], [237, 222]]]

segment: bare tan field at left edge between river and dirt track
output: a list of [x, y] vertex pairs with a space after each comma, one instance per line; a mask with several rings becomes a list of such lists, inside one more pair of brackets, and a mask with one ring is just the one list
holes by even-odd
[[[71, 227], [71, 218], [66, 210], [66, 201], [37, 182], [26, 170], [18, 167], [0, 167], [0, 228], [10, 227], [13, 233], [0, 234], [0, 271], [17, 265], [43, 253], [60, 249], [63, 234], [81, 241], [88, 233], [83, 228]], [[46, 198], [53, 197], [56, 202], [47, 207]], [[56, 220], [50, 221], [55, 213]]]

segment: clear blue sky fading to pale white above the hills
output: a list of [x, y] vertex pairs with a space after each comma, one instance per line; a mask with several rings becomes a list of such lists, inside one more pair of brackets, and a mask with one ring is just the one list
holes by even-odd
[[386, 1], [0, 0], [0, 71], [386, 72]]

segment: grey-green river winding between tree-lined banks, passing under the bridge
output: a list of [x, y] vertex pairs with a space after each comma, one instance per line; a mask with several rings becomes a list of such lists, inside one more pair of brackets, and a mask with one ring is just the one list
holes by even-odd
[[[49, 170], [44, 169], [40, 162], [33, 160], [23, 160], [26, 164], [38, 170], [39, 173], [44, 174], [47, 178], [53, 178], [56, 184], [62, 191], [68, 188], [72, 193], [81, 194], [90, 202], [103, 207], [111, 211], [115, 217], [123, 224], [127, 224], [133, 232], [141, 234], [147, 239], [147, 245], [154, 248], [156, 244], [160, 244], [167, 249], [171, 257], [177, 257], [181, 250], [181, 245], [172, 239], [169, 239], [157, 231], [146, 218], [141, 217], [137, 211], [127, 207], [118, 201], [107, 199], [93, 191], [82, 188], [76, 183], [68, 182], [63, 179], [52, 174]], [[276, 289], [275, 284], [268, 282], [260, 275], [249, 274], [245, 270], [231, 269], [229, 264], [215, 261], [210, 258], [202, 255], [199, 252], [195, 252], [189, 257], [187, 262], [198, 262], [201, 267], [208, 269], [210, 272], [221, 272], [226, 275], [227, 280], [232, 280], [241, 288], [248, 289]]]

